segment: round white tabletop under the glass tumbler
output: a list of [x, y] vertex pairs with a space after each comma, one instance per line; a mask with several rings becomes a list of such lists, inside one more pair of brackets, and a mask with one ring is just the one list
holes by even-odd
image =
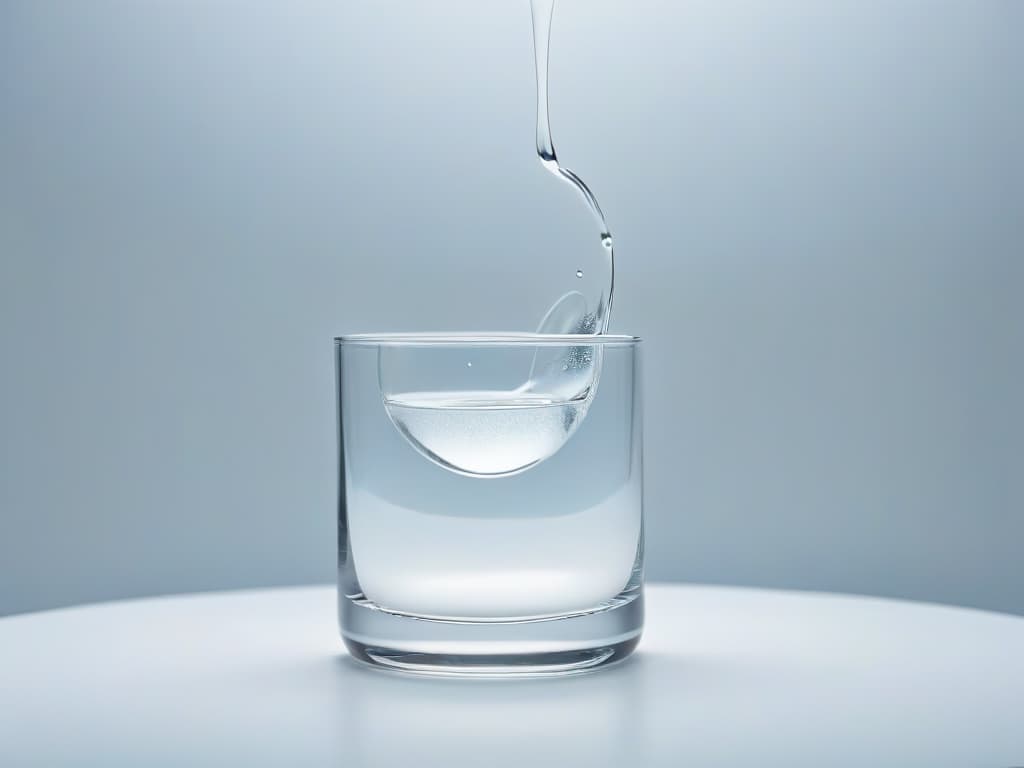
[[0, 620], [3, 766], [1024, 765], [1024, 618], [648, 589], [624, 665], [412, 678], [345, 654], [329, 587]]

